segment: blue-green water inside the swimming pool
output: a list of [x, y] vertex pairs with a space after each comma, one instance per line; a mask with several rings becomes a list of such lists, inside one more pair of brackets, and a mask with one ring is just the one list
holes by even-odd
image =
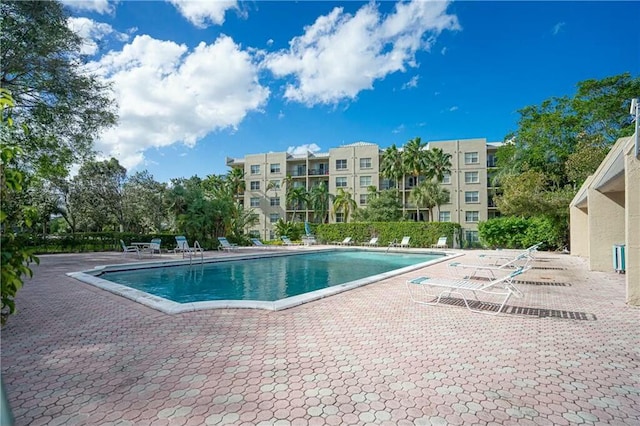
[[179, 303], [275, 301], [440, 257], [341, 250], [105, 272], [100, 278]]

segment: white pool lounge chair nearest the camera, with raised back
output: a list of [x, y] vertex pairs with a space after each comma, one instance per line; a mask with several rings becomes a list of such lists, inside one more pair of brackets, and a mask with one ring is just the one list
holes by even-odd
[[[446, 278], [431, 278], [431, 277], [416, 277], [406, 281], [407, 290], [409, 290], [409, 295], [411, 300], [415, 303], [424, 304], [424, 305], [437, 305], [440, 303], [440, 300], [443, 296], [449, 297], [451, 294], [456, 294], [462, 297], [465, 306], [472, 312], [481, 313], [481, 314], [489, 314], [489, 315], [497, 315], [502, 312], [502, 309], [507, 304], [509, 298], [512, 295], [516, 297], [522, 297], [522, 292], [518, 290], [513, 285], [513, 279], [518, 275], [527, 271], [529, 267], [519, 268], [511, 273], [504, 275], [501, 278], [492, 280], [488, 283], [486, 282], [478, 282], [471, 280], [451, 280]], [[425, 296], [424, 299], [419, 299], [412, 291], [412, 287], [422, 288], [423, 294]], [[429, 288], [440, 289], [440, 293], [430, 294], [428, 292]], [[478, 304], [483, 304], [482, 301], [478, 299], [478, 295], [490, 295], [501, 298], [501, 302], [499, 303], [499, 307], [497, 310], [479, 310], [474, 309], [474, 307], [469, 305], [469, 301], [467, 300], [467, 296], [469, 293], [473, 295], [473, 300], [471, 303], [475, 306]], [[431, 300], [429, 300], [431, 299]], [[498, 305], [498, 303], [492, 303], [493, 306]]]

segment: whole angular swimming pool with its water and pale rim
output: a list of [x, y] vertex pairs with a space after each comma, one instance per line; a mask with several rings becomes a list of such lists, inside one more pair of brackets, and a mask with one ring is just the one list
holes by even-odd
[[69, 275], [168, 313], [222, 307], [279, 310], [443, 258], [441, 253], [322, 250], [240, 255], [193, 265], [110, 265]]

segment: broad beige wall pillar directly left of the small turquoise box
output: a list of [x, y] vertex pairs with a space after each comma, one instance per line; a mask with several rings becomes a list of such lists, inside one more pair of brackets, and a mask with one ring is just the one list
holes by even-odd
[[589, 269], [613, 271], [612, 247], [625, 241], [624, 192], [603, 194], [589, 188]]

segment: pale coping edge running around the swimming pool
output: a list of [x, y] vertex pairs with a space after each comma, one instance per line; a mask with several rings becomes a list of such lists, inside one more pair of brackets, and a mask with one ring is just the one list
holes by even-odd
[[[360, 250], [360, 251], [372, 251], [372, 252], [380, 252], [379, 249], [366, 249], [366, 248], [350, 248], [351, 250]], [[313, 250], [305, 250], [304, 253], [318, 253], [325, 251], [338, 251], [343, 250], [343, 248], [319, 248]], [[183, 312], [193, 312], [193, 311], [201, 311], [201, 310], [209, 310], [209, 309], [263, 309], [268, 311], [280, 311], [283, 309], [293, 308], [295, 306], [302, 305], [304, 303], [312, 302], [315, 300], [323, 299], [325, 297], [333, 296], [335, 294], [342, 293], [344, 291], [352, 290], [357, 287], [362, 287], [364, 285], [373, 284], [378, 281], [385, 280], [390, 277], [394, 277], [396, 275], [401, 275], [407, 272], [414, 271], [416, 269], [421, 269], [436, 263], [449, 261], [459, 256], [463, 256], [463, 253], [454, 253], [454, 252], [446, 252], [446, 251], [433, 251], [433, 250], [420, 250], [420, 249], [408, 249], [408, 250], [394, 250], [393, 253], [411, 253], [411, 254], [438, 254], [444, 255], [441, 258], [433, 259], [428, 262], [418, 263], [416, 265], [405, 266], [403, 268], [394, 269], [392, 271], [383, 272], [381, 274], [372, 275], [370, 277], [361, 278], [359, 280], [349, 281], [344, 284], [338, 284], [335, 286], [323, 288], [320, 290], [315, 290], [312, 292], [300, 294], [297, 296], [291, 296], [284, 299], [276, 300], [276, 301], [261, 301], [261, 300], [216, 300], [216, 301], [202, 301], [202, 302], [188, 302], [188, 303], [180, 303], [174, 302], [173, 300], [165, 299], [160, 296], [155, 296], [150, 293], [146, 293], [140, 290], [136, 290], [134, 288], [130, 288], [121, 284], [116, 284], [111, 281], [104, 280], [97, 275], [102, 274], [104, 272], [111, 271], [122, 271], [122, 270], [135, 270], [135, 269], [147, 269], [147, 268], [159, 268], [163, 266], [183, 266], [183, 265], [195, 265], [200, 263], [221, 263], [228, 261], [238, 261], [238, 260], [248, 260], [248, 259], [257, 259], [257, 258], [266, 258], [266, 257], [279, 257], [279, 256], [291, 256], [302, 254], [299, 251], [292, 251], [290, 253], [287, 252], [260, 252], [260, 253], [238, 253], [231, 256], [225, 256], [224, 258], [204, 258], [202, 262], [199, 260], [193, 259], [184, 259], [184, 260], [162, 260], [162, 261], [152, 261], [152, 262], [138, 262], [138, 263], [124, 263], [124, 264], [113, 264], [113, 265], [100, 265], [96, 266], [93, 269], [79, 272], [68, 272], [66, 275], [74, 278], [78, 281], [81, 281], [85, 284], [89, 284], [95, 287], [98, 287], [102, 290], [109, 291], [110, 293], [114, 293], [116, 295], [125, 297], [134, 302], [140, 303], [149, 308], [158, 310], [165, 314], [179, 314]]]

